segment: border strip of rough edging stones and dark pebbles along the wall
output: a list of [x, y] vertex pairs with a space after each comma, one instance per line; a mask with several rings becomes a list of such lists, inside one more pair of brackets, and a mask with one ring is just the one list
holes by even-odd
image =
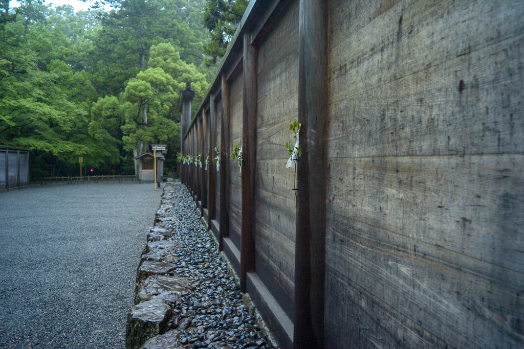
[[271, 349], [277, 345], [185, 187], [163, 188], [137, 268], [128, 349]]

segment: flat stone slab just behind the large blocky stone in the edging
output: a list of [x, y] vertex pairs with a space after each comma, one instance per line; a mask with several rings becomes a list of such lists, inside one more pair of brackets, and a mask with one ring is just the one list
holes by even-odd
[[173, 299], [189, 292], [189, 281], [183, 277], [151, 275], [138, 285], [135, 304], [148, 301], [160, 294], [169, 292]]

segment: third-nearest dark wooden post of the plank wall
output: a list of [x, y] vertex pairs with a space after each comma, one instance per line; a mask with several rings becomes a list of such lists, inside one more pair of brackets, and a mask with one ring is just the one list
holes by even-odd
[[225, 74], [222, 74], [222, 127], [220, 143], [220, 239], [219, 250], [224, 247], [224, 238], [229, 235], [229, 212], [227, 202], [227, 151], [230, 149], [231, 88]]

